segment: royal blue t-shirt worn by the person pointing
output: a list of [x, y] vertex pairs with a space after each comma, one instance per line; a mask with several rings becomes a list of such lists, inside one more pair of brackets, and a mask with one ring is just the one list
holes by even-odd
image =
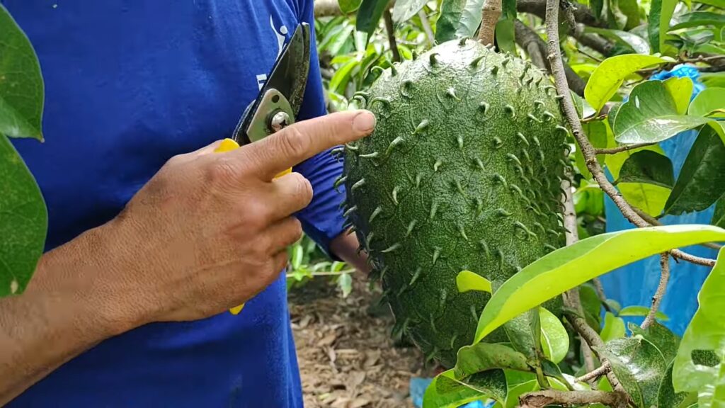
[[[46, 84], [46, 142], [13, 142], [46, 198], [47, 249], [112, 219], [173, 155], [231, 135], [297, 25], [314, 27], [312, 0], [0, 1]], [[314, 44], [298, 120], [325, 113]], [[295, 171], [315, 192], [299, 219], [327, 248], [341, 164], [325, 152]], [[105, 340], [9, 407], [302, 407], [284, 274], [237, 316]]]

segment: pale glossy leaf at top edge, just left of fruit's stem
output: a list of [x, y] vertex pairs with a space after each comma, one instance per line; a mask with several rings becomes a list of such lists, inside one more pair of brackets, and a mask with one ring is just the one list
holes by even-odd
[[436, 42], [473, 37], [481, 25], [483, 0], [443, 0], [436, 23]]

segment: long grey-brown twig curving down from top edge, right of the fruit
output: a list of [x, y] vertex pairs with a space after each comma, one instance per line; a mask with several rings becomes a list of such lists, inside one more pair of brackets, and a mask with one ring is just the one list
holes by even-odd
[[[554, 7], [552, 7], [552, 4]], [[579, 115], [576, 113], [573, 102], [571, 101], [571, 94], [566, 85], [566, 76], [564, 74], [564, 63], [561, 59], [561, 51], [559, 49], [559, 31], [558, 31], [558, 15], [559, 7], [558, 0], [547, 0], [546, 10], [546, 21], [547, 21], [547, 39], [549, 54], [547, 58], [552, 68], [552, 75], [555, 79], [556, 90], [560, 97], [562, 97], [561, 103], [563, 105], [564, 114], [566, 120], [571, 126], [574, 139], [581, 148], [581, 154], [584, 155], [584, 162], [587, 164], [587, 168], [592, 173], [592, 176], [597, 181], [597, 184], [617, 205], [619, 211], [621, 211], [624, 218], [629, 220], [632, 224], [637, 227], [651, 227], [647, 221], [642, 219], [637, 213], [632, 210], [631, 205], [624, 200], [624, 197], [617, 191], [617, 189], [609, 182], [607, 177], [602, 171], [597, 161], [597, 153], [595, 148], [589, 143], [587, 135], [584, 134], [584, 130], [581, 128], [579, 122]], [[675, 258], [680, 258], [684, 261], [692, 262], [693, 264], [699, 264], [704, 266], [715, 266], [715, 260], [710, 258], [701, 258], [699, 256], [690, 255], [684, 253], [681, 250], [674, 249], [670, 251], [671, 255]]]

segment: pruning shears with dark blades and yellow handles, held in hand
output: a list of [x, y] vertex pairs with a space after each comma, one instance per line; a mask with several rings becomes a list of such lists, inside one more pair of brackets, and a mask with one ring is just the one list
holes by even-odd
[[[231, 138], [224, 139], [215, 152], [228, 152], [257, 142], [294, 123], [299, 113], [310, 70], [310, 25], [302, 23], [284, 46], [272, 73], [257, 98], [244, 110]], [[291, 168], [277, 174], [283, 176]], [[229, 311], [239, 314], [244, 304]]]

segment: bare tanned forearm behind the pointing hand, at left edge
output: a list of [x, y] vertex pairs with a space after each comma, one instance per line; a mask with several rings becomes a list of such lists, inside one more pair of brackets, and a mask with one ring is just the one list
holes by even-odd
[[117, 332], [96, 230], [46, 253], [22, 295], [0, 299], [0, 406]]

